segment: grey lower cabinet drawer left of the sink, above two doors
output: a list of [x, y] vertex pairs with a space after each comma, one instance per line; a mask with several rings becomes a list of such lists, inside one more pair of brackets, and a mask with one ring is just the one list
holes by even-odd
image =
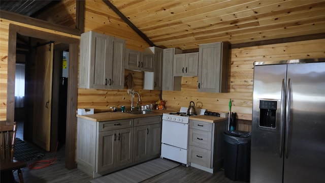
[[113, 120], [113, 121], [105, 121], [100, 122], [99, 131], [107, 131], [107, 130], [115, 130], [115, 129], [123, 129], [133, 127], [133, 119], [121, 119], [121, 120]]

